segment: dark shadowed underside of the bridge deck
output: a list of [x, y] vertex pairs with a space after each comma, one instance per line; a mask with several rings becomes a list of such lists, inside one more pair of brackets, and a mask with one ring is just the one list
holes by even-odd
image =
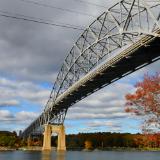
[[[141, 45], [141, 44], [140, 44]], [[138, 50], [123, 57], [120, 61], [107, 67], [103, 72], [95, 74], [79, 88], [70, 93], [56, 108], [67, 109], [77, 101], [85, 98], [89, 94], [103, 88], [106, 85], [160, 59], [160, 38], [156, 38], [146, 45], [142, 45]]]

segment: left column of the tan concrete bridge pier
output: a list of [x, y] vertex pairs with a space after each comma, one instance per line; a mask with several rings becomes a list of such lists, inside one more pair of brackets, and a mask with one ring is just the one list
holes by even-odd
[[42, 150], [51, 150], [51, 125], [45, 125], [43, 133], [43, 148]]

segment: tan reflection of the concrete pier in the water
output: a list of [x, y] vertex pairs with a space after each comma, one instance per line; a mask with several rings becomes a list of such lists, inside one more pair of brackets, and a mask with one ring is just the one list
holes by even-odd
[[41, 160], [65, 160], [65, 152], [43, 151]]

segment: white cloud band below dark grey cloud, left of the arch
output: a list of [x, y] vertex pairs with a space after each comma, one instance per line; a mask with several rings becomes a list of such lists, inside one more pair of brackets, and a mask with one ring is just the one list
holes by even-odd
[[50, 92], [50, 89], [45, 89], [33, 82], [15, 81], [0, 77], [0, 106], [19, 105], [20, 100], [44, 106]]

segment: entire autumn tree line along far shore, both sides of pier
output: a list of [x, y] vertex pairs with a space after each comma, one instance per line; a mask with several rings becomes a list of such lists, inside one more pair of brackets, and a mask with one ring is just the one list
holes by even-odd
[[[52, 146], [57, 146], [57, 136], [52, 137]], [[43, 136], [20, 139], [15, 132], [0, 132], [0, 150], [18, 149], [23, 146], [42, 146]], [[66, 146], [70, 150], [160, 150], [160, 134], [130, 133], [79, 133], [66, 135]]]

